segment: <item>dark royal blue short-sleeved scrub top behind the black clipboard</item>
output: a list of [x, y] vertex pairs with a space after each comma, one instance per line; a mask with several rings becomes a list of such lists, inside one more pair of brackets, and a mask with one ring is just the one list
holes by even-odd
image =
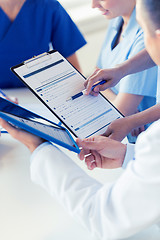
[[24, 87], [10, 67], [49, 50], [64, 57], [86, 44], [56, 0], [26, 0], [14, 22], [0, 8], [0, 88]]

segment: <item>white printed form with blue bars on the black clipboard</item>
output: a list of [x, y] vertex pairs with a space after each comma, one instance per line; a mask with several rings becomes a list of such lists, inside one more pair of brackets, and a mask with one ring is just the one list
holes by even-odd
[[14, 71], [38, 97], [80, 138], [102, 134], [122, 115], [102, 96], [82, 95], [84, 77], [57, 51]]

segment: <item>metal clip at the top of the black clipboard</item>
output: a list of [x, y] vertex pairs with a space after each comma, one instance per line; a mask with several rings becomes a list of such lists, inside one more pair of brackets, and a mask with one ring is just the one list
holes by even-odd
[[51, 55], [48, 52], [44, 52], [37, 56], [34, 56], [23, 63], [27, 66], [27, 68], [31, 68], [39, 63], [45, 62], [51, 58]]

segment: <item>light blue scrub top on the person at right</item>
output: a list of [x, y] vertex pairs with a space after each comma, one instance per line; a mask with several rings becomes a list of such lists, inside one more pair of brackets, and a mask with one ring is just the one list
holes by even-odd
[[[110, 21], [98, 59], [99, 68], [114, 67], [144, 49], [143, 31], [136, 21], [135, 9], [122, 35], [123, 40], [113, 48], [122, 23], [122, 17]], [[138, 106], [139, 111], [152, 107], [156, 104], [157, 67], [124, 77], [112, 90], [116, 94], [123, 92], [144, 96]]]

